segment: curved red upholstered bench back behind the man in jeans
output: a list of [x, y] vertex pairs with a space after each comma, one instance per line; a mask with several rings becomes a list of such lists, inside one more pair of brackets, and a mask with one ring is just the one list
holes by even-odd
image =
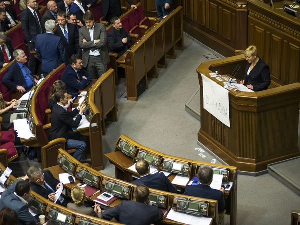
[[49, 78], [46, 77], [47, 80], [45, 84], [41, 86], [39, 93], [36, 96], [35, 104], [38, 105], [38, 107], [36, 107], [36, 115], [42, 125], [46, 124], [45, 110], [48, 108], [48, 98], [50, 89], [56, 80], [60, 80], [64, 70], [65, 65], [60, 69], [55, 69], [55, 73], [52, 74]]

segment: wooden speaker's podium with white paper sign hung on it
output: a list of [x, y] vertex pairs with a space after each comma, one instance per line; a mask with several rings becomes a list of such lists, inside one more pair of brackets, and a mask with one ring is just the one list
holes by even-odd
[[227, 127], [203, 108], [203, 83], [201, 73], [231, 74], [241, 65], [237, 79], [245, 73], [243, 55], [202, 63], [197, 68], [201, 86], [201, 128], [198, 141], [214, 154], [239, 171], [258, 172], [268, 164], [300, 155], [298, 148], [298, 123], [300, 83], [259, 91], [229, 90], [230, 126]]

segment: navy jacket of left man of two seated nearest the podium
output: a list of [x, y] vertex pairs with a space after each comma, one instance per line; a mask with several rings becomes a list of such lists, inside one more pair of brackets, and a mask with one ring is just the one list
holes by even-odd
[[171, 193], [177, 193], [176, 187], [170, 182], [162, 172], [157, 172], [155, 174], [148, 174], [140, 179], [134, 180], [132, 182], [135, 185], [144, 184], [149, 188], [156, 190], [163, 190]]

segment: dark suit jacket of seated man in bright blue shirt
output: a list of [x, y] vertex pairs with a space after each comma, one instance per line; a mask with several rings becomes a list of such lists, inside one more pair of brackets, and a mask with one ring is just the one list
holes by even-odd
[[2, 83], [10, 90], [15, 90], [17, 86], [22, 86], [26, 90], [32, 87], [27, 86], [22, 70], [16, 61], [8, 67], [7, 73], [2, 78]]

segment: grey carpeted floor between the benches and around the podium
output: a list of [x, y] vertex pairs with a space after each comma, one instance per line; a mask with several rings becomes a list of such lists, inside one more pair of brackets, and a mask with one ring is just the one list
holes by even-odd
[[[196, 68], [203, 55], [213, 52], [185, 36], [184, 51], [168, 60], [158, 79], [149, 81], [137, 102], [127, 101], [124, 79], [117, 87], [118, 122], [107, 126], [103, 136], [104, 152], [114, 151], [120, 135], [127, 135], [140, 144], [192, 160], [210, 162], [213, 158], [194, 150], [200, 122], [185, 111], [185, 103], [198, 88]], [[122, 95], [122, 97], [120, 97]], [[101, 172], [114, 176], [114, 166], [105, 161]], [[291, 210], [300, 210], [300, 197], [269, 174], [258, 177], [238, 175], [237, 224], [289, 224]], [[228, 217], [225, 223], [229, 224]]]

